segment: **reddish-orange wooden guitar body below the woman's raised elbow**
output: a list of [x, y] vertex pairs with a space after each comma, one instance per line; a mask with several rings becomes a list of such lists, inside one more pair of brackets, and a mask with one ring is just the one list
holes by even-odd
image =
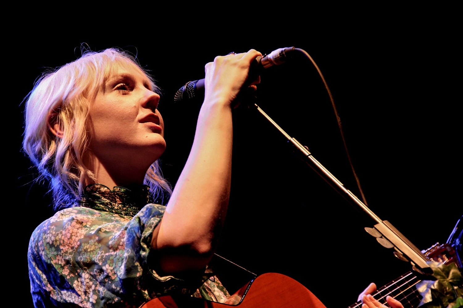
[[306, 287], [293, 278], [277, 273], [258, 276], [244, 287], [238, 304], [209, 302], [191, 296], [163, 296], [144, 303], [140, 308], [326, 308]]

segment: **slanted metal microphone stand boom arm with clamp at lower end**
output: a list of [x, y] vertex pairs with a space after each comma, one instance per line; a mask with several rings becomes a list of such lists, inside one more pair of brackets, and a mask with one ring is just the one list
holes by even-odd
[[[344, 185], [339, 182], [338, 179], [331, 172], [329, 172], [313, 155], [309, 152], [309, 149], [295, 138], [289, 136], [272, 118], [270, 118], [257, 104], [250, 104], [250, 108], [256, 109], [260, 114], [263, 115], [273, 126], [275, 126], [283, 136], [288, 139], [288, 142], [293, 145], [294, 153], [296, 153], [301, 160], [307, 163], [315, 172], [319, 174], [329, 185], [338, 191], [341, 196], [344, 197], [354, 207], [362, 209], [376, 224], [375, 228], [365, 228], [365, 230], [376, 240], [386, 248], [394, 247], [396, 252], [394, 255], [401, 260], [410, 261], [415, 270], [418, 270], [416, 266], [421, 268], [423, 271], [430, 272], [429, 265], [426, 262], [430, 261], [421, 251], [414, 246], [407, 238], [399, 232], [394, 226], [387, 220], [381, 220], [371, 209], [368, 208], [359, 198], [357, 198], [351, 191], [346, 189]], [[408, 259], [404, 256], [406, 255]], [[418, 270], [419, 271], [419, 270]]]

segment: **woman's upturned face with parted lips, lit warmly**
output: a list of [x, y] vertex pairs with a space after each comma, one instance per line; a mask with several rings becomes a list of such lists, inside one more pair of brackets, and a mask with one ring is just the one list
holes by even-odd
[[101, 159], [148, 166], [163, 154], [164, 123], [150, 80], [136, 66], [117, 65], [90, 106], [90, 150]]

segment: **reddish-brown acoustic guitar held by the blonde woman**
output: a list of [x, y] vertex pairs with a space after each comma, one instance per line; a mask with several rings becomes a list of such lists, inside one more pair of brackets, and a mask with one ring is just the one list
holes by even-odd
[[[454, 249], [460, 243], [462, 234], [463, 216], [457, 222], [447, 243], [443, 245], [436, 243], [424, 254], [434, 261], [447, 264], [454, 262], [459, 268], [462, 268], [462, 260]], [[372, 296], [387, 307], [389, 306], [386, 302], [386, 296], [389, 295], [400, 301], [404, 308], [416, 308], [421, 301], [421, 296], [415, 286], [420, 281], [409, 271], [378, 289]], [[302, 284], [277, 273], [266, 273], [256, 277], [235, 292], [225, 303], [210, 302], [191, 296], [162, 296], [145, 302], [140, 308], [226, 308], [233, 306], [239, 308], [326, 308]], [[362, 302], [356, 302], [348, 308], [361, 306]]]

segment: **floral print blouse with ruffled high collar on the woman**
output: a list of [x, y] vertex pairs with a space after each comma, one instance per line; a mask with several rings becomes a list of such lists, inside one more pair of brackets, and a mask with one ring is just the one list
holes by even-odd
[[138, 308], [176, 294], [225, 302], [230, 295], [208, 269], [181, 279], [156, 273], [151, 234], [165, 206], [146, 203], [147, 186], [111, 191], [95, 184], [42, 222], [28, 253], [35, 307]]

